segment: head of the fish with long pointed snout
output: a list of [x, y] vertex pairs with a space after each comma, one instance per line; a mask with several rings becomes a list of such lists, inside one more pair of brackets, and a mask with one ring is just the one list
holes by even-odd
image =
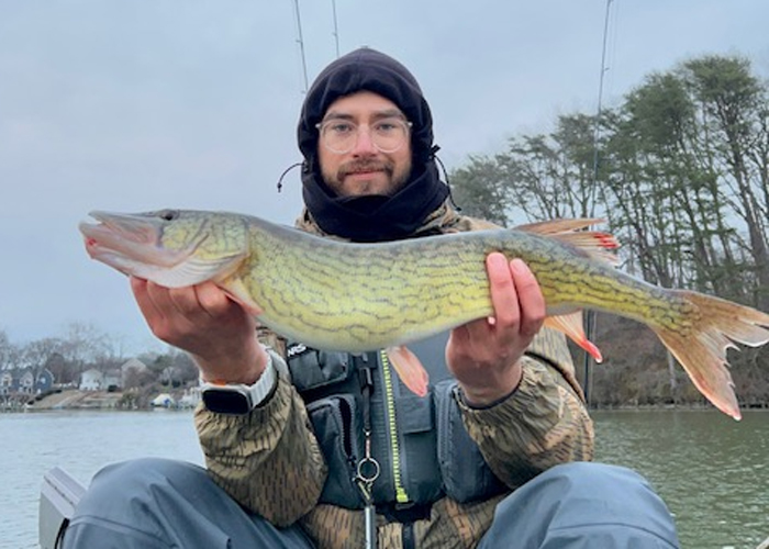
[[248, 255], [248, 229], [236, 214], [193, 210], [94, 211], [81, 223], [86, 251], [98, 261], [166, 288], [221, 281]]

